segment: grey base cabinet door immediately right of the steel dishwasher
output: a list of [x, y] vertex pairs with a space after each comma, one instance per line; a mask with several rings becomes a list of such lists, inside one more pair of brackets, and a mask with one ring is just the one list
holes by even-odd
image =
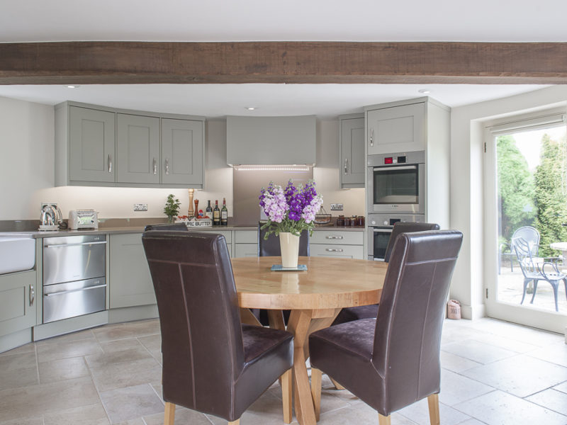
[[150, 267], [142, 246], [142, 234], [111, 234], [110, 307], [134, 307], [155, 304]]

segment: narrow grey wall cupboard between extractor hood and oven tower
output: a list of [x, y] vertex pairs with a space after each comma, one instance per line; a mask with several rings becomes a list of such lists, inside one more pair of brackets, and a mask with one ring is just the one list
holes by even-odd
[[341, 188], [364, 188], [366, 160], [364, 156], [364, 115], [339, 117]]

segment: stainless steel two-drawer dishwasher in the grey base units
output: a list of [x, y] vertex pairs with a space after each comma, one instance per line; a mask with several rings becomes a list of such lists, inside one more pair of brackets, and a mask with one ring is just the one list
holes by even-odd
[[106, 310], [106, 235], [43, 239], [43, 323]]

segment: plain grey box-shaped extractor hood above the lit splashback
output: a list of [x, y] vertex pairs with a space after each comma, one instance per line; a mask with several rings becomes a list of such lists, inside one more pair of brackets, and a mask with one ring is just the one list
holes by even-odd
[[237, 164], [315, 164], [315, 115], [226, 118], [226, 158]]

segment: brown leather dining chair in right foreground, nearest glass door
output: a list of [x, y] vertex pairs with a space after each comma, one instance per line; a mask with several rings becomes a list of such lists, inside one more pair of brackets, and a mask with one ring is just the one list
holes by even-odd
[[338, 324], [309, 337], [315, 414], [321, 370], [370, 407], [381, 425], [427, 397], [439, 424], [439, 348], [445, 303], [463, 234], [454, 230], [398, 237], [384, 280], [378, 317]]

